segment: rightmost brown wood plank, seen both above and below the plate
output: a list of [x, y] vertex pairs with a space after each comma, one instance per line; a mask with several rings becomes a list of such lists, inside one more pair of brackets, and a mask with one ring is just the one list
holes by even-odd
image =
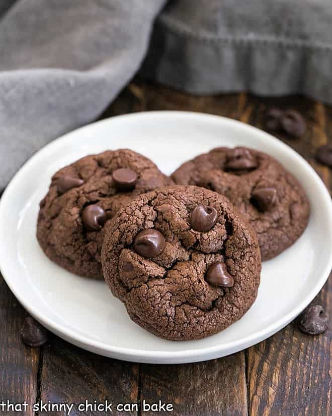
[[[269, 105], [295, 108], [305, 116], [307, 132], [301, 140], [280, 139], [302, 154], [317, 170], [326, 186], [330, 186], [330, 170], [313, 155], [317, 147], [331, 140], [332, 113], [326, 118], [321, 103], [304, 98], [287, 100], [255, 99], [260, 114]], [[262, 127], [262, 117], [257, 124]], [[313, 303], [331, 312], [331, 279]], [[273, 337], [248, 349], [247, 379], [251, 414], [327, 416], [330, 408], [330, 331], [311, 337], [302, 334], [293, 322]]]

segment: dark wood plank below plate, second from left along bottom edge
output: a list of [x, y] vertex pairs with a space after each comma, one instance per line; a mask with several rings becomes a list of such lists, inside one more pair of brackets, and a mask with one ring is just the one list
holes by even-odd
[[[52, 335], [44, 349], [41, 371], [41, 400], [44, 403], [74, 404], [71, 416], [104, 416], [114, 414], [136, 416], [138, 412], [117, 411], [119, 403], [137, 404], [139, 366], [112, 360], [77, 348]], [[113, 403], [112, 413], [94, 406], [87, 410], [78, 409], [85, 401], [92, 405]], [[80, 410], [80, 411], [79, 411]], [[41, 411], [39, 415], [58, 416], [58, 411]], [[61, 414], [64, 414], [63, 412]]]

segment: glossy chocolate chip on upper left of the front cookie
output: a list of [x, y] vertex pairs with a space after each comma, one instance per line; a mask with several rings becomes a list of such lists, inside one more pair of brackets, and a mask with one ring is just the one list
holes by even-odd
[[158, 256], [165, 247], [165, 238], [154, 228], [140, 231], [134, 240], [134, 250], [137, 254], [151, 259]]

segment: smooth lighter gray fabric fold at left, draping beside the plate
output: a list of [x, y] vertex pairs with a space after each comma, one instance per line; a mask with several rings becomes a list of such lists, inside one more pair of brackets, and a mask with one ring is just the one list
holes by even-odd
[[164, 0], [18, 0], [0, 21], [0, 192], [138, 70]]

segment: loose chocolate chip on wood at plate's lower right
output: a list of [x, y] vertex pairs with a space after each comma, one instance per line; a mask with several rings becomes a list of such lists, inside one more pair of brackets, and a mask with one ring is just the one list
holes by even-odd
[[309, 335], [319, 335], [328, 327], [328, 319], [321, 305], [308, 306], [297, 322], [299, 329]]

